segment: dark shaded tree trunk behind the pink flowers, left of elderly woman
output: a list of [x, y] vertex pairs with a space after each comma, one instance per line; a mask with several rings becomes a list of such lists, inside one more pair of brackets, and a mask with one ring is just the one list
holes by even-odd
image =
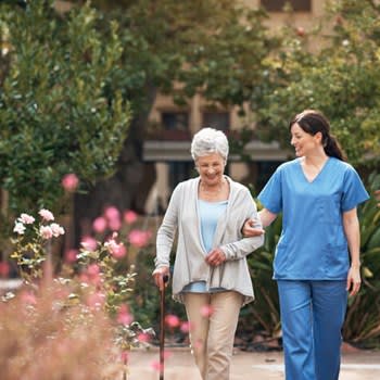
[[[150, 107], [153, 105], [156, 89], [147, 90]], [[150, 109], [149, 106], [147, 110]], [[109, 179], [96, 183], [86, 194], [74, 199], [74, 221], [72, 248], [78, 248], [81, 238], [92, 232], [92, 221], [101, 216], [107, 206], [119, 212], [134, 210], [144, 214], [144, 204], [156, 179], [154, 163], [143, 162], [143, 139], [149, 111], [137, 115], [129, 127], [128, 137], [116, 164], [116, 173]]]

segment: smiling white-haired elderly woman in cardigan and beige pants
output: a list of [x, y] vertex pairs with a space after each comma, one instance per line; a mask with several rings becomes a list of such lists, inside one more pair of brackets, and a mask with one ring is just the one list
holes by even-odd
[[219, 130], [194, 135], [191, 155], [199, 176], [175, 188], [156, 240], [153, 277], [162, 289], [178, 230], [173, 297], [185, 304], [204, 380], [229, 379], [239, 312], [253, 301], [245, 256], [264, 242], [263, 236], [242, 237], [242, 220], [262, 226], [250, 191], [224, 174], [228, 150]]

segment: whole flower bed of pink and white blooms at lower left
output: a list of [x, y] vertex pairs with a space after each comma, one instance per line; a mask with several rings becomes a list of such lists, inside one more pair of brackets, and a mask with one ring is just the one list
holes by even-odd
[[[127, 378], [128, 351], [154, 335], [153, 329], [141, 327], [129, 307], [136, 273], [128, 253], [147, 245], [151, 232], [132, 226], [137, 214], [126, 212], [121, 220], [115, 211], [105, 210], [104, 224], [94, 220], [98, 236], [85, 237], [78, 252], [67, 252], [56, 276], [45, 265], [51, 254], [47, 246], [50, 239], [64, 233], [52, 223], [54, 215], [41, 210], [40, 220], [26, 213], [15, 220], [11, 257], [23, 284], [16, 292], [2, 294], [0, 303], [4, 311], [0, 325], [8, 334], [0, 344], [7, 362], [4, 379], [45, 379], [48, 377], [41, 373], [50, 376], [49, 368], [53, 373], [50, 379], [114, 379], [117, 371]], [[53, 363], [45, 365], [43, 357], [55, 352]], [[31, 353], [40, 357], [35, 359]], [[92, 369], [79, 371], [79, 365]]]

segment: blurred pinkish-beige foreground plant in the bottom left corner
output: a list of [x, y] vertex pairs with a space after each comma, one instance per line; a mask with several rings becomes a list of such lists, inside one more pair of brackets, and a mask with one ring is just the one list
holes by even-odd
[[67, 303], [68, 295], [66, 284], [54, 283], [39, 291], [23, 288], [0, 302], [1, 379], [115, 379], [121, 373], [110, 319], [101, 309]]

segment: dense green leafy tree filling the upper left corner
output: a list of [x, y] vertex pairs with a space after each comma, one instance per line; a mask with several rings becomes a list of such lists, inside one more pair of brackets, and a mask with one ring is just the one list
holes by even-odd
[[116, 22], [97, 30], [101, 14], [89, 5], [59, 14], [38, 0], [0, 14], [0, 187], [13, 212], [61, 212], [63, 176], [111, 176], [127, 136], [121, 31]]

